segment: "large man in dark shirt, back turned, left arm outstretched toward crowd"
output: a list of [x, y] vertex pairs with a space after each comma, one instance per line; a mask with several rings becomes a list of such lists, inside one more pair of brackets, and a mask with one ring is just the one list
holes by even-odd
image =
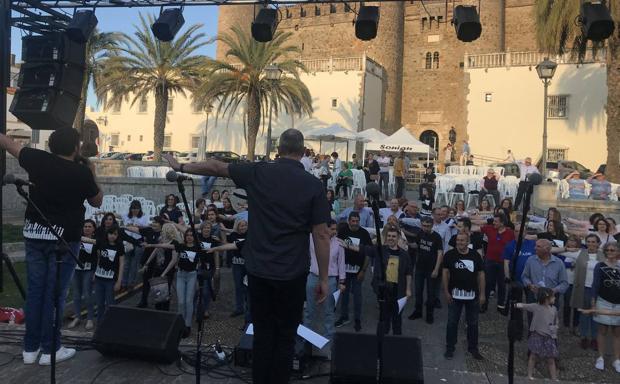
[[310, 233], [319, 264], [317, 301], [329, 294], [330, 214], [325, 191], [300, 162], [300, 131], [284, 131], [278, 152], [273, 162], [238, 164], [213, 159], [179, 164], [164, 156], [175, 171], [230, 177], [247, 192], [250, 220], [242, 254], [254, 324], [254, 384], [288, 383], [310, 268]]

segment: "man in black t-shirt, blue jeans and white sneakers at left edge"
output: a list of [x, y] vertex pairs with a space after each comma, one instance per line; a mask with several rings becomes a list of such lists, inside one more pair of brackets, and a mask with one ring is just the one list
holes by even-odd
[[[29, 188], [33, 202], [77, 254], [84, 221], [84, 200], [98, 207], [103, 195], [96, 183], [94, 166], [79, 156], [80, 136], [75, 129], [61, 128], [54, 131], [49, 139], [49, 147], [51, 153], [24, 148], [0, 134], [0, 149], [17, 158], [19, 165], [28, 172], [33, 183]], [[75, 349], [60, 344], [60, 329], [52, 335], [57, 241], [30, 205], [26, 208], [23, 235], [28, 279], [23, 359], [24, 364], [33, 364], [41, 352], [39, 364], [49, 365], [52, 337], [56, 338], [57, 362], [75, 355]], [[58, 319], [63, 317], [65, 297], [74, 268], [75, 261], [68, 252], [64, 253], [60, 271]]]

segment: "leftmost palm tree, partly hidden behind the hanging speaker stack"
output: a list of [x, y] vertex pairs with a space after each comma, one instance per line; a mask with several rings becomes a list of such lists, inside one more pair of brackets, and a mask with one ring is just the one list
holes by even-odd
[[88, 86], [92, 80], [93, 86], [97, 88], [97, 76], [101, 72], [101, 63], [111, 52], [118, 48], [120, 34], [116, 32], [99, 32], [95, 30], [86, 43], [86, 71], [84, 71], [84, 83], [80, 104], [75, 115], [73, 126], [82, 132], [84, 118], [86, 116], [86, 98], [88, 96]]

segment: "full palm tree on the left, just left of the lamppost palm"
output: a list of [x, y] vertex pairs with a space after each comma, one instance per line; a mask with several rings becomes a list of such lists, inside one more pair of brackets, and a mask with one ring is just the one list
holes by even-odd
[[152, 15], [140, 15], [134, 35], [122, 36], [118, 53], [102, 63], [96, 92], [104, 108], [129, 100], [133, 106], [151, 92], [155, 94], [153, 156], [160, 161], [168, 98], [175, 93], [186, 96], [185, 92], [196, 86], [206, 57], [195, 52], [212, 41], [205, 40], [205, 35], [198, 33], [202, 25], [195, 24], [175, 40], [161, 42], [151, 32], [153, 22]]

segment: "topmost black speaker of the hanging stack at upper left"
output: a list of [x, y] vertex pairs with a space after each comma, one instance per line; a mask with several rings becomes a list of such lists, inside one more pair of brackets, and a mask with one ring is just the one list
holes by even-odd
[[65, 33], [24, 36], [22, 38], [22, 61], [59, 62], [84, 67], [86, 44], [71, 41]]

